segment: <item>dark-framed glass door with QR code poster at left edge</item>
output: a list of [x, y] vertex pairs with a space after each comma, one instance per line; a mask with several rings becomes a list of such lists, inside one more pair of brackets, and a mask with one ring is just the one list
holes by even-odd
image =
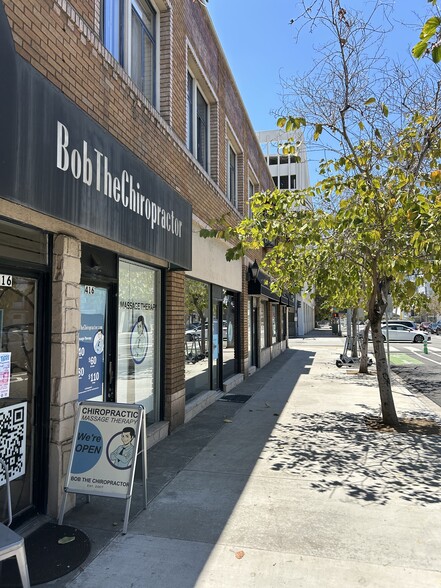
[[[8, 465], [12, 510], [20, 516], [45, 509], [49, 400], [41, 302], [48, 297], [43, 275], [6, 272], [0, 273], [0, 455]], [[50, 316], [48, 304], [45, 311]], [[5, 503], [2, 496], [2, 508]]]

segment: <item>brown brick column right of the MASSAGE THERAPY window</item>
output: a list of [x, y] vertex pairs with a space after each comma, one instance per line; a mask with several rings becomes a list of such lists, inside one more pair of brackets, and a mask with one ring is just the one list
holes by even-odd
[[164, 418], [170, 431], [185, 419], [185, 274], [166, 273]]

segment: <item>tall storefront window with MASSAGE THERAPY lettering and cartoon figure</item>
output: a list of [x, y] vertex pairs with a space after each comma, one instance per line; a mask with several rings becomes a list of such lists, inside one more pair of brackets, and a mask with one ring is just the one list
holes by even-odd
[[147, 424], [159, 419], [158, 270], [120, 260], [117, 402], [142, 404]]

